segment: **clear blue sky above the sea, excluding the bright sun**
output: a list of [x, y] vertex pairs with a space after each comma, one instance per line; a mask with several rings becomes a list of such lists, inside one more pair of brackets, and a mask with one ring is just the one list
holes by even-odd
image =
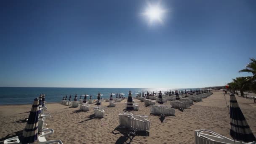
[[[225, 85], [256, 58], [256, 0], [1, 0], [0, 86]], [[157, 1], [150, 1], [154, 5]]]

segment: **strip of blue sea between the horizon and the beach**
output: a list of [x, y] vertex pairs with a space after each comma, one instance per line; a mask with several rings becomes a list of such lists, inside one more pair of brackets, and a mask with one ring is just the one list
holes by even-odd
[[[197, 88], [192, 88], [195, 90]], [[41, 93], [45, 94], [45, 101], [60, 102], [63, 96], [72, 96], [72, 100], [77, 94], [77, 99], [80, 99], [82, 95], [92, 95], [92, 99], [97, 98], [97, 94], [101, 93], [102, 99], [109, 99], [110, 93], [116, 95], [116, 93], [123, 93], [125, 97], [128, 97], [129, 91], [131, 91], [132, 96], [136, 96], [137, 93], [152, 93], [153, 91], [184, 91], [190, 90], [190, 88], [31, 88], [31, 87], [0, 87], [0, 105], [10, 105], [10, 104], [32, 104], [36, 97], [39, 97]], [[82, 97], [83, 98], [83, 97]], [[115, 96], [113, 97], [115, 98]], [[89, 99], [89, 97], [88, 97]]]

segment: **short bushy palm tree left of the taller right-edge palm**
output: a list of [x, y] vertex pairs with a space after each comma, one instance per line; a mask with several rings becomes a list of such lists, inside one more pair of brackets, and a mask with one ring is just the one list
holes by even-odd
[[249, 89], [249, 85], [251, 84], [250, 81], [248, 81], [248, 79], [250, 79], [251, 77], [237, 77], [236, 79], [233, 79], [232, 84], [236, 89], [240, 90], [241, 96], [244, 96], [244, 91]]

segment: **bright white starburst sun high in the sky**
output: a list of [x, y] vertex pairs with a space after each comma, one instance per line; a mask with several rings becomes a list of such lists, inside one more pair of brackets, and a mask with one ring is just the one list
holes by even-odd
[[160, 7], [160, 3], [157, 5], [152, 5], [148, 3], [148, 7], [144, 13], [142, 13], [143, 16], [147, 16], [149, 18], [149, 23], [152, 24], [153, 21], [158, 21], [161, 24], [163, 24], [163, 14], [167, 13], [168, 10], [165, 10]]

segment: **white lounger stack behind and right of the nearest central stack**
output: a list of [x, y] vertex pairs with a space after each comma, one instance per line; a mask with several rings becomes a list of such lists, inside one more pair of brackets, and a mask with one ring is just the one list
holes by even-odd
[[155, 115], [175, 115], [175, 109], [172, 109], [171, 106], [162, 106], [162, 105], [152, 105], [151, 114]]

